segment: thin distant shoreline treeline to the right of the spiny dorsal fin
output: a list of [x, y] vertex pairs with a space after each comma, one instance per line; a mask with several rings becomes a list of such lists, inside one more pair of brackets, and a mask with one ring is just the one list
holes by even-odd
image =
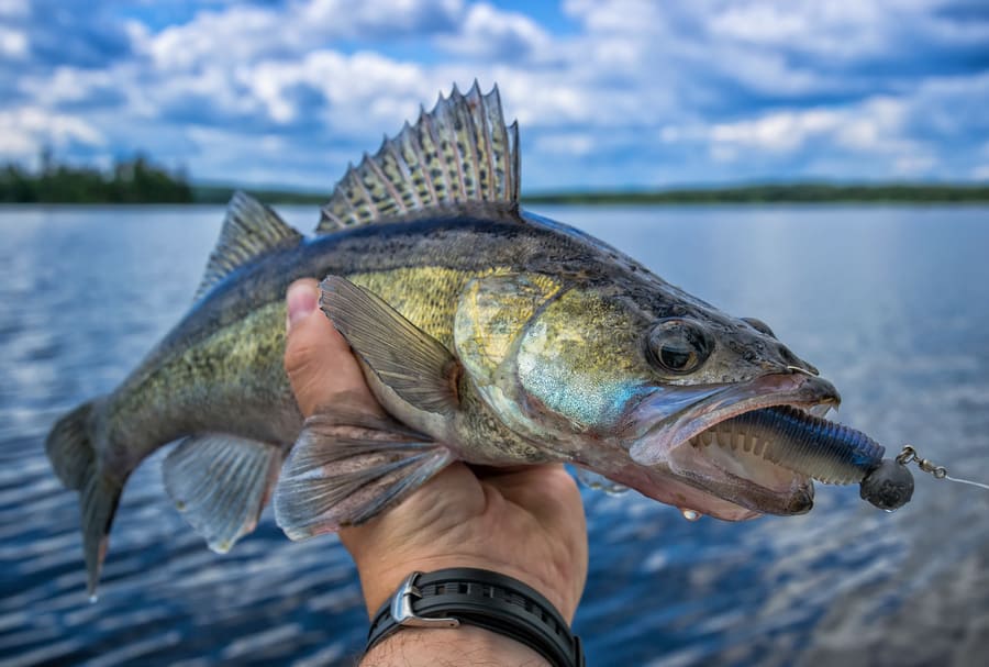
[[989, 201], [989, 185], [780, 184], [729, 188], [612, 192], [546, 192], [523, 196], [529, 203], [704, 204], [704, 203], [964, 203]]

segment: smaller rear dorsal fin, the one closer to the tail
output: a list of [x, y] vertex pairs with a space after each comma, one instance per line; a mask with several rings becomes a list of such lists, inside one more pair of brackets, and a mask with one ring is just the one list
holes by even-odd
[[226, 205], [220, 241], [207, 263], [196, 299], [255, 257], [292, 247], [300, 241], [302, 234], [290, 227], [275, 211], [249, 194], [234, 192]]

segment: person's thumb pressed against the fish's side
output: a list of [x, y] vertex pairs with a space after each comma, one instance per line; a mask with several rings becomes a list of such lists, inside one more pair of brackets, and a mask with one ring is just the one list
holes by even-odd
[[303, 416], [346, 400], [377, 411], [357, 359], [319, 309], [319, 284], [292, 282], [286, 294], [285, 370]]

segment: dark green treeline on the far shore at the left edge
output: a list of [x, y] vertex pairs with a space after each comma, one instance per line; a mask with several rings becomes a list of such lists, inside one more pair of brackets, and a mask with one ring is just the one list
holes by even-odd
[[36, 171], [16, 164], [0, 168], [2, 203], [189, 203], [185, 174], [169, 171], [138, 153], [108, 171], [58, 164], [42, 154]]

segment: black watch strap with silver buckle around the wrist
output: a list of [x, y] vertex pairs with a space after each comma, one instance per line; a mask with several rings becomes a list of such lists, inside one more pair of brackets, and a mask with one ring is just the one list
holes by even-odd
[[371, 620], [367, 649], [400, 627], [477, 625], [525, 644], [555, 667], [584, 667], [580, 638], [542, 594], [468, 567], [412, 572]]

